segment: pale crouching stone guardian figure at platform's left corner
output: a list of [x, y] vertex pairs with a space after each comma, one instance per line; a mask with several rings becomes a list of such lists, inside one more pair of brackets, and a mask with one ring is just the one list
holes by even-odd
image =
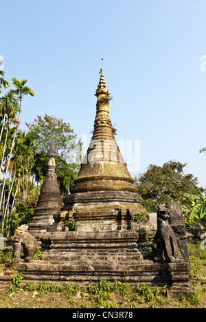
[[12, 260], [16, 263], [20, 260], [21, 245], [23, 246], [25, 262], [30, 262], [39, 249], [38, 241], [34, 236], [27, 232], [27, 229], [27, 225], [21, 225], [16, 229], [14, 234]]

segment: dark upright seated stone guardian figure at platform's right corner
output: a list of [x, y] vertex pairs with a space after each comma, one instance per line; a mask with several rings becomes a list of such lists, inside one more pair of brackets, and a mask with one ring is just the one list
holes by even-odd
[[156, 261], [163, 259], [163, 256], [166, 262], [181, 260], [179, 238], [175, 236], [174, 230], [168, 223], [169, 218], [170, 210], [159, 205], [157, 208], [157, 232], [152, 243], [152, 251]]

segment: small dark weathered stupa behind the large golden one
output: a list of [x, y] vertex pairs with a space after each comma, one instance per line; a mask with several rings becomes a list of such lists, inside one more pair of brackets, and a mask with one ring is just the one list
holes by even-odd
[[63, 206], [55, 172], [56, 149], [53, 141], [47, 151], [47, 156], [49, 156], [47, 175], [29, 223], [29, 232], [35, 237], [47, 231], [48, 227], [54, 223], [54, 213], [58, 212]]

